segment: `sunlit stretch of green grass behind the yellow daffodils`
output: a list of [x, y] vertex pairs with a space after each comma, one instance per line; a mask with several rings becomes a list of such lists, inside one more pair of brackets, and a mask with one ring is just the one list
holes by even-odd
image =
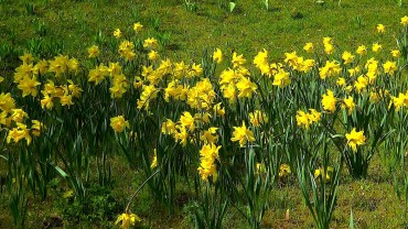
[[[357, 45], [394, 41], [398, 18], [407, 12], [407, 4], [398, 7], [388, 1], [313, 1], [270, 2], [267, 11], [261, 2], [236, 1], [238, 10], [229, 13], [216, 0], [196, 1], [197, 10], [187, 11], [182, 1], [34, 1], [34, 13], [29, 13], [24, 1], [0, 3], [0, 43], [12, 45], [19, 53], [30, 50], [30, 41], [58, 41], [62, 53], [84, 58], [86, 48], [95, 44], [99, 31], [112, 37], [115, 29], [130, 32], [140, 21], [151, 36], [169, 33], [170, 43], [163, 52], [175, 59], [197, 59], [204, 48], [221, 47], [253, 56], [267, 48], [273, 59], [283, 52], [301, 50], [305, 42], [321, 44], [323, 36], [332, 36], [342, 48], [354, 51]], [[369, 8], [367, 7], [369, 6]], [[119, 13], [120, 12], [120, 13]], [[292, 17], [293, 12], [302, 18]], [[393, 12], [393, 13], [388, 13]], [[336, 17], [332, 17], [335, 14]], [[152, 24], [159, 20], [158, 32]], [[378, 35], [375, 26], [386, 25]], [[395, 48], [394, 43], [383, 44]]]

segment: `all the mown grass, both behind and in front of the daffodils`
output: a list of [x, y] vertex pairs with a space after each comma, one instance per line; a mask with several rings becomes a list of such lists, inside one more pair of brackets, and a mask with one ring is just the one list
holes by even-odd
[[[394, 0], [361, 1], [270, 1], [266, 10], [261, 1], [236, 1], [230, 13], [218, 7], [218, 0], [194, 1], [196, 10], [189, 11], [183, 1], [120, 1], [120, 0], [0, 0], [0, 75], [11, 76], [18, 66], [18, 55], [32, 52], [41, 58], [58, 53], [85, 59], [87, 47], [98, 43], [103, 48], [115, 41], [112, 32], [120, 29], [130, 34], [131, 24], [140, 21], [147, 32], [143, 36], [161, 37], [160, 53], [174, 61], [198, 61], [205, 48], [219, 47], [229, 53], [236, 51], [253, 57], [267, 48], [275, 61], [281, 61], [284, 52], [301, 51], [305, 42], [313, 42], [322, 50], [322, 37], [332, 36], [343, 50], [355, 51], [357, 45], [371, 46], [380, 42], [384, 55], [396, 48], [394, 34], [399, 15], [408, 6], [399, 7]], [[393, 13], [389, 13], [393, 12]], [[335, 15], [335, 17], [333, 17]], [[386, 33], [376, 33], [378, 23], [386, 25]], [[2, 45], [2, 46], [1, 46]], [[341, 52], [337, 52], [340, 54]], [[107, 57], [108, 58], [108, 57]], [[114, 218], [125, 208], [127, 198], [141, 183], [139, 174], [122, 166], [121, 159], [110, 159], [115, 184], [110, 195], [117, 208], [108, 212], [103, 222], [80, 219], [80, 228], [114, 227]], [[2, 161], [0, 161], [2, 163]], [[0, 175], [6, 164], [0, 164]], [[406, 219], [404, 203], [393, 188], [391, 175], [376, 154], [365, 181], [345, 177], [339, 189], [337, 208], [332, 227], [347, 228], [353, 209], [356, 228], [402, 228]], [[135, 178], [136, 177], [136, 178]], [[77, 208], [61, 199], [56, 188], [47, 199], [30, 198], [28, 226], [30, 228], [76, 228], [64, 215], [64, 208]], [[100, 197], [100, 194], [95, 194]], [[8, 212], [8, 196], [0, 193], [0, 209]], [[181, 185], [176, 198], [180, 206], [170, 215], [152, 203], [148, 188], [136, 200], [136, 211], [143, 218], [142, 228], [191, 228], [189, 189]], [[264, 217], [266, 228], [311, 228], [313, 220], [303, 204], [301, 192], [293, 176], [282, 182], [270, 197], [276, 200]], [[100, 204], [100, 203], [99, 203]], [[248, 228], [238, 210], [232, 208], [225, 227]], [[290, 218], [284, 219], [289, 209]], [[109, 218], [110, 217], [110, 218]], [[12, 217], [0, 215], [0, 228], [12, 228]]]

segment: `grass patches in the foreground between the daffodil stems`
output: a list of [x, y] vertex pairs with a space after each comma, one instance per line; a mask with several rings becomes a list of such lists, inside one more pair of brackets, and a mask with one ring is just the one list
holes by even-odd
[[[119, 163], [120, 159], [115, 160]], [[127, 198], [138, 186], [138, 174], [132, 173], [127, 167], [119, 168], [116, 164], [114, 177], [116, 182], [111, 195], [120, 209], [126, 205]], [[136, 175], [136, 176], [135, 176]], [[135, 178], [136, 177], [136, 178]], [[387, 174], [385, 166], [382, 165], [379, 156], [372, 163], [369, 176], [365, 181], [353, 181], [344, 174], [339, 188], [337, 207], [334, 211], [332, 228], [348, 228], [350, 210], [353, 209], [354, 225], [356, 228], [402, 228], [405, 227], [404, 203], [398, 199], [390, 183], [391, 175]], [[179, 205], [176, 212], [169, 215], [165, 208], [152, 203], [149, 189], [144, 188], [135, 201], [136, 212], [143, 219], [140, 228], [191, 228], [191, 216], [189, 216], [189, 198], [192, 196], [189, 190], [179, 186], [176, 195]], [[77, 210], [69, 204], [62, 205], [65, 199], [61, 199], [62, 189], [52, 189], [46, 200], [39, 198], [30, 199], [28, 227], [44, 228], [46, 225], [61, 225], [57, 228], [75, 228], [79, 223], [80, 228], [111, 228], [114, 219], [105, 219], [104, 222], [93, 222], [82, 219], [76, 222], [64, 218], [64, 208]], [[8, 197], [4, 193], [0, 195], [0, 209], [8, 211]], [[313, 220], [307, 206], [303, 204], [301, 192], [294, 176], [282, 179], [273, 189], [270, 199], [273, 200], [267, 210], [264, 220], [264, 228], [312, 228]], [[58, 204], [57, 204], [58, 203]], [[248, 228], [247, 222], [239, 212], [230, 208], [230, 212], [225, 217], [225, 227]], [[289, 209], [289, 220], [284, 215]], [[119, 214], [120, 210], [117, 212]], [[115, 217], [115, 215], [112, 216]], [[13, 228], [12, 217], [9, 215], [0, 216], [0, 226]]]

